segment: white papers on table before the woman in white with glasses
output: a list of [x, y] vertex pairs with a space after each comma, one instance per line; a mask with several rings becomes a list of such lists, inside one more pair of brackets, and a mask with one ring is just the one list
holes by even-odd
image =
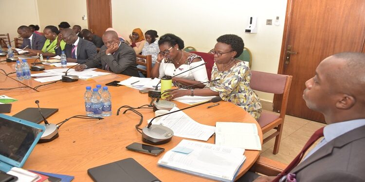
[[[130, 77], [127, 80], [123, 80], [118, 84], [125, 85], [138, 90], [143, 90], [146, 88], [155, 88], [158, 83], [160, 83], [160, 79], [158, 78], [150, 79], [150, 78]], [[159, 87], [160, 86], [161, 84], [159, 84]]]

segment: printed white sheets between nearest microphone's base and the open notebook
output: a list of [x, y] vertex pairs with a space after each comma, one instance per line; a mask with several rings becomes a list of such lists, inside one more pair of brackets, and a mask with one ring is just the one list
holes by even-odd
[[[174, 107], [170, 112], [179, 110]], [[153, 120], [152, 124], [164, 125], [170, 128], [175, 136], [207, 141], [215, 132], [214, 126], [200, 124], [187, 116], [183, 111], [162, 116], [158, 121]]]

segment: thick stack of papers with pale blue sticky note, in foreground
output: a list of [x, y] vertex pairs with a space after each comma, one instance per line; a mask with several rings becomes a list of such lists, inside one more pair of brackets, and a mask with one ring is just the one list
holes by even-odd
[[223, 182], [233, 182], [246, 160], [244, 149], [182, 140], [158, 161], [164, 167]]

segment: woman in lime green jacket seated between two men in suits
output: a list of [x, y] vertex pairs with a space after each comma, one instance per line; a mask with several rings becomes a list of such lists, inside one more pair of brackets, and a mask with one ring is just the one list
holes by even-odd
[[[27, 49], [30, 52], [30, 54], [28, 54], [28, 55], [37, 55], [37, 53], [39, 53], [39, 54], [42, 54], [44, 58], [48, 57], [48, 56], [54, 57], [56, 55], [55, 47], [57, 45], [57, 39], [58, 39], [58, 34], [59, 34], [57, 27], [49, 25], [44, 28], [43, 34], [47, 40], [46, 40], [46, 42], [44, 42], [44, 46], [43, 46], [42, 50]], [[61, 40], [61, 42], [60, 42], [61, 50], [64, 50], [65, 46], [66, 46], [66, 42]]]

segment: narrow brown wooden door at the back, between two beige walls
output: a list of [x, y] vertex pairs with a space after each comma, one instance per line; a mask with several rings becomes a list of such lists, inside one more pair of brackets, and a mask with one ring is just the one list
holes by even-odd
[[107, 28], [112, 27], [111, 2], [110, 0], [87, 0], [86, 4], [89, 30], [101, 37]]

